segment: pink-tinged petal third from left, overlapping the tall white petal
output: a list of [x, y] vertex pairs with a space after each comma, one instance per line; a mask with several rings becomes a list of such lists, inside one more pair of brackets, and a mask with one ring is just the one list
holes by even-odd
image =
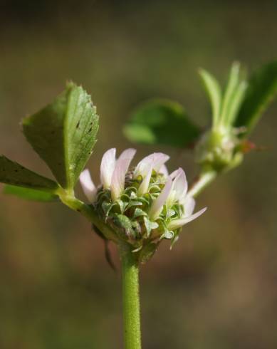
[[113, 172], [112, 182], [110, 184], [110, 192], [112, 194], [113, 201], [118, 199], [124, 191], [125, 175], [128, 170], [129, 164], [129, 159], [117, 160], [115, 164], [115, 170]]

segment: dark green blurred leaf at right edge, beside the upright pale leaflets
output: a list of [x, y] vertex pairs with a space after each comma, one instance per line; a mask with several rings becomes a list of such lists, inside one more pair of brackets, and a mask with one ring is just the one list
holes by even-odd
[[249, 79], [246, 97], [236, 118], [236, 127], [246, 127], [248, 134], [277, 93], [277, 61], [254, 71]]

